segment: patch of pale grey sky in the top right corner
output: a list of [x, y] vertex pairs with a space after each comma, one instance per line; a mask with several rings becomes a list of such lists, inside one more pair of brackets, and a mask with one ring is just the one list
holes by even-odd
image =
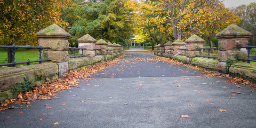
[[256, 2], [256, 0], [224, 0], [223, 4], [225, 4], [226, 8], [229, 8], [229, 7], [234, 8], [242, 4], [249, 5], [252, 2]]

